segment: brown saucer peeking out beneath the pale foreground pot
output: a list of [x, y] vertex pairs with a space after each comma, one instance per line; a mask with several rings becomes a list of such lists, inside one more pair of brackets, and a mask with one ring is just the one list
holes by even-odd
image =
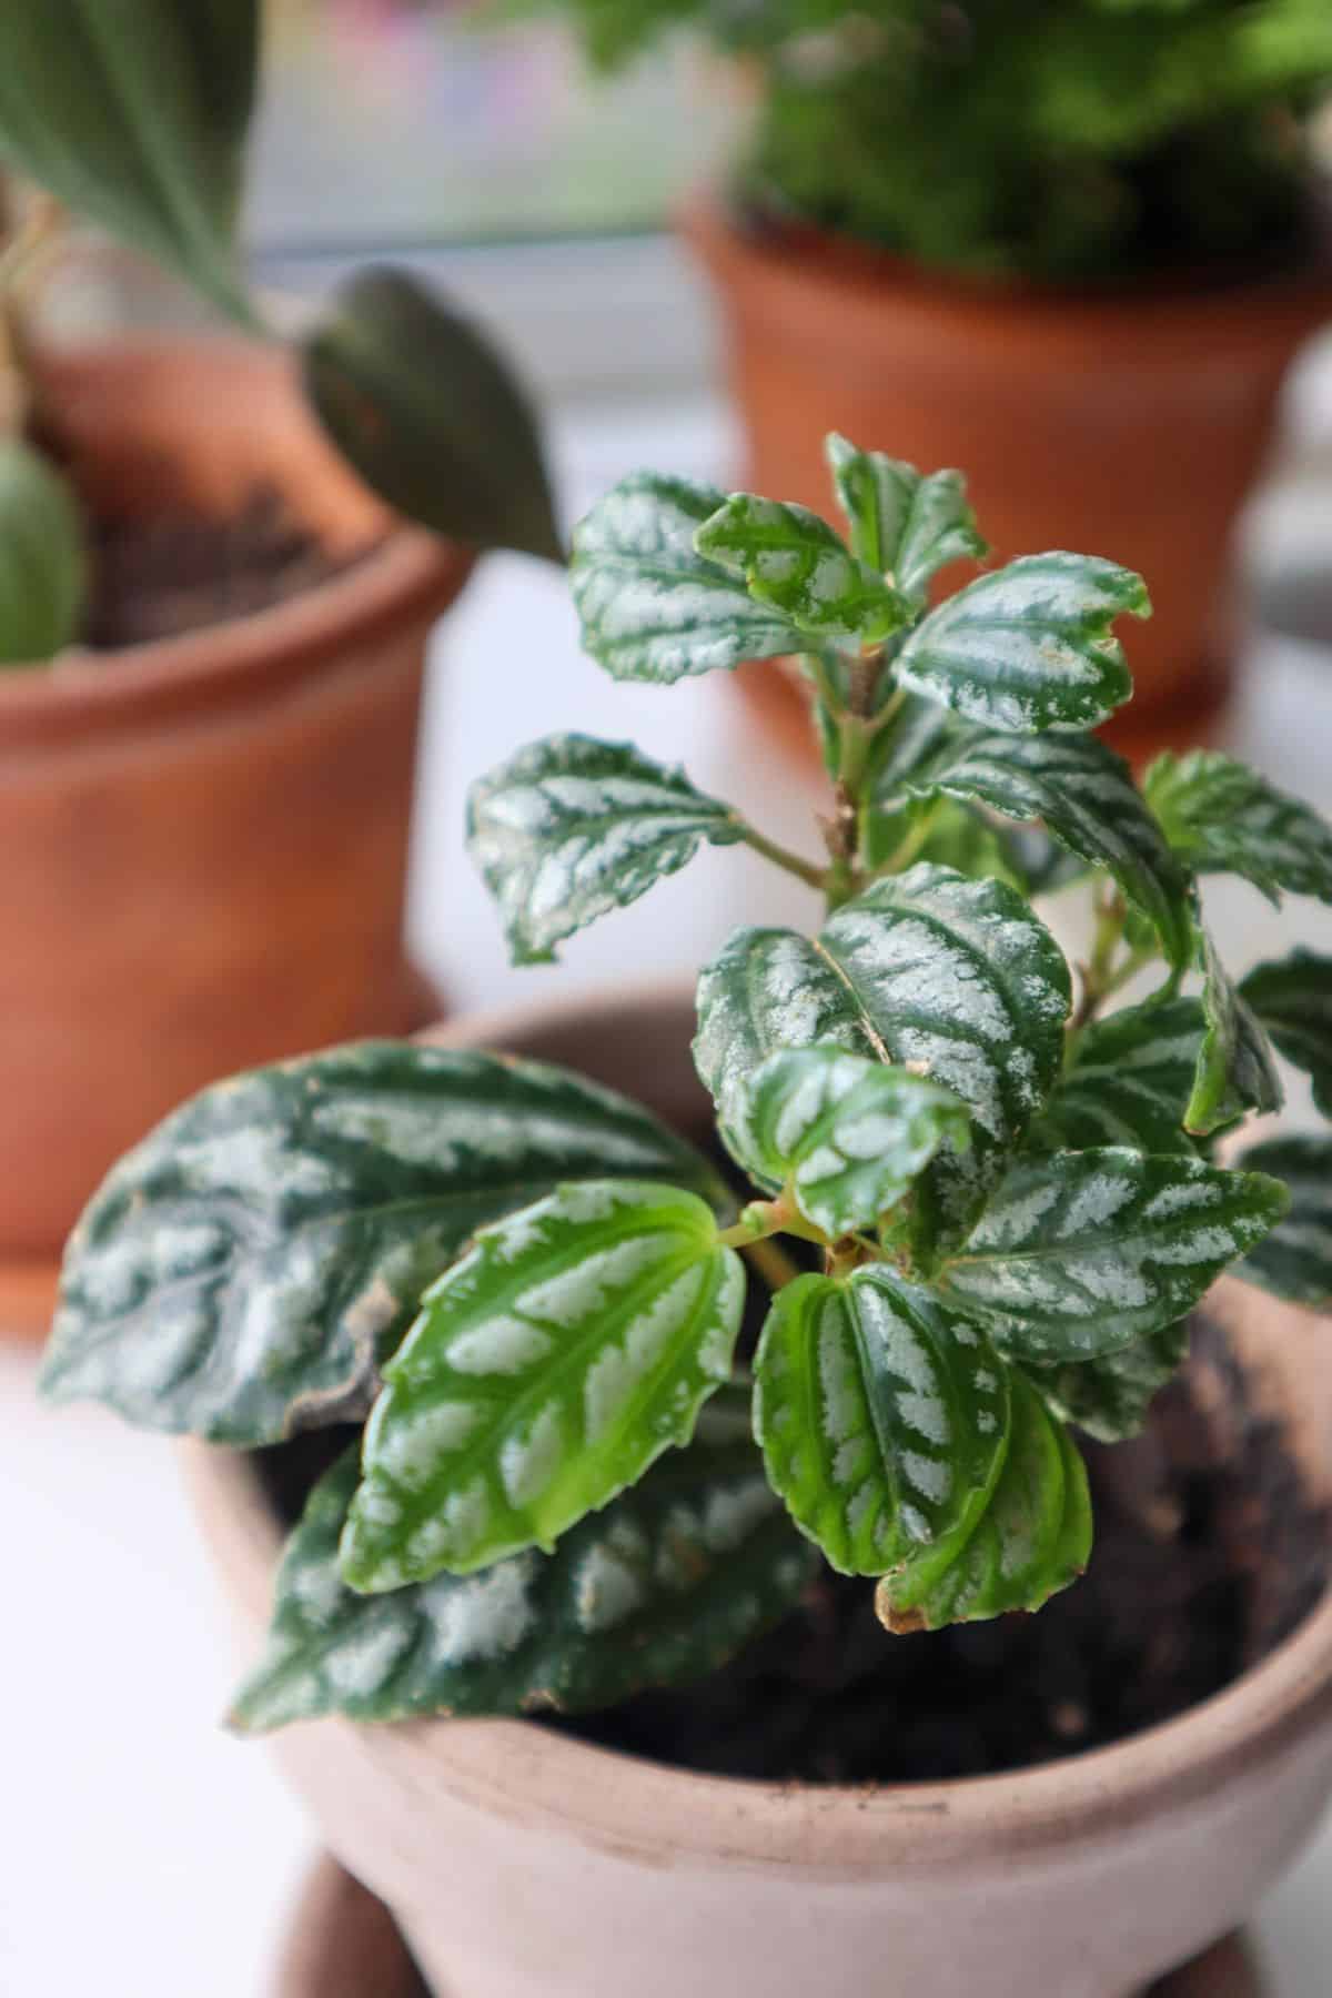
[[[365, 1998], [367, 1992], [431, 1998], [389, 1910], [326, 1856], [302, 1890], [270, 1998]], [[1264, 1984], [1244, 1938], [1226, 1936], [1192, 1964], [1158, 1978], [1142, 1998], [1264, 1998]]]

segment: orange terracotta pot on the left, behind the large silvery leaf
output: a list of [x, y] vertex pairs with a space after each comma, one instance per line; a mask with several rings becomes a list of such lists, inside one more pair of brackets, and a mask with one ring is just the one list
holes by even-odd
[[194, 1089], [419, 1025], [401, 943], [425, 639], [471, 557], [389, 521], [284, 354], [106, 346], [48, 370], [108, 511], [280, 490], [353, 567], [274, 609], [0, 673], [0, 1327], [108, 1165]]

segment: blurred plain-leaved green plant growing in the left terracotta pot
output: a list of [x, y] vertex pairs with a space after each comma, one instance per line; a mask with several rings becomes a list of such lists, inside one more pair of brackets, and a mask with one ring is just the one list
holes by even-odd
[[[34, 300], [62, 210], [148, 252], [266, 336], [238, 258], [260, 0], [42, 0], [0, 18], [0, 665], [78, 637], [88, 557], [44, 448]], [[2, 190], [0, 190], [2, 192]], [[353, 276], [300, 340], [308, 398], [393, 509], [479, 547], [563, 559], [531, 410], [481, 334], [399, 270]], [[48, 424], [46, 418], [52, 418]]]

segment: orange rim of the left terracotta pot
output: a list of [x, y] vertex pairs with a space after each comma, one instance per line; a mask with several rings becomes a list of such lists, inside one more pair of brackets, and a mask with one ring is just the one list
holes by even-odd
[[[46, 362], [46, 372], [78, 392], [108, 374], [132, 378], [146, 366], [170, 368], [182, 352], [220, 368], [254, 368], [266, 354], [260, 342], [234, 334], [144, 334], [62, 350]], [[284, 366], [280, 350], [272, 350], [272, 366]], [[345, 478], [353, 482], [349, 470]], [[385, 623], [411, 611], [443, 613], [467, 581], [477, 549], [395, 523], [367, 490], [365, 501], [367, 515], [373, 507], [391, 521], [381, 541], [312, 589], [116, 653], [80, 647], [48, 667], [0, 671], [0, 749], [38, 739], [78, 741], [180, 709], [278, 695], [328, 669], [333, 633], [339, 647], [369, 649]]]

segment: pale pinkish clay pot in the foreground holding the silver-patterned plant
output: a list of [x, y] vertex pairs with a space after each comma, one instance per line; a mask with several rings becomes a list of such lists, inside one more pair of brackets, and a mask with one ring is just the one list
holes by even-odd
[[[697, 1129], [685, 995], [471, 1021], [445, 1045], [573, 1061]], [[1328, 1327], [1216, 1315], [1330, 1483]], [[242, 1457], [188, 1449], [254, 1654], [280, 1528]], [[1122, 1998], [1232, 1928], [1322, 1814], [1332, 1592], [1224, 1694], [1012, 1776], [819, 1788], [697, 1776], [529, 1722], [274, 1736], [337, 1858], [457, 1998]]]

